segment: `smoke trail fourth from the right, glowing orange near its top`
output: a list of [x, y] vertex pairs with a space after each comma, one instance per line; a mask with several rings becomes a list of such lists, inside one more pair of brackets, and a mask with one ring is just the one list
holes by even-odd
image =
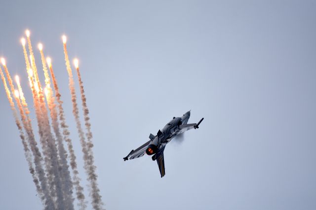
[[52, 120], [52, 126], [55, 133], [55, 136], [57, 138], [58, 143], [58, 154], [61, 160], [61, 178], [62, 178], [62, 190], [65, 197], [65, 208], [68, 209], [74, 209], [74, 199], [72, 197], [73, 194], [73, 183], [71, 180], [70, 172], [68, 170], [68, 162], [67, 162], [67, 152], [64, 148], [64, 143], [62, 139], [62, 135], [59, 131], [59, 123], [58, 123], [58, 117], [57, 117], [57, 111], [56, 111], [56, 105], [55, 105], [55, 98], [52, 97], [52, 89], [50, 87], [50, 78], [46, 67], [46, 61], [44, 57], [44, 53], [42, 51], [42, 45], [39, 44], [40, 48], [40, 57], [41, 62], [43, 66], [44, 76], [45, 76], [45, 85], [47, 89], [46, 99], [48, 108], [50, 111], [50, 117]]

